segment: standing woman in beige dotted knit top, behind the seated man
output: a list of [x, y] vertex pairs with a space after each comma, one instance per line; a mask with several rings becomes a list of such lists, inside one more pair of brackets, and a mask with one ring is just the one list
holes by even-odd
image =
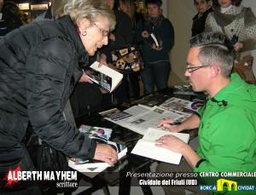
[[236, 60], [241, 61], [256, 49], [256, 18], [241, 0], [213, 0], [214, 12], [208, 14], [206, 32], [222, 32], [235, 45]]

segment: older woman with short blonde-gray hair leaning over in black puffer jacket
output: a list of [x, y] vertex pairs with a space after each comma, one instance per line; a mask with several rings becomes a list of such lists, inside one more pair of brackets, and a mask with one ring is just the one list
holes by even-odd
[[[70, 0], [64, 14], [59, 20], [21, 26], [0, 40], [2, 173], [18, 167], [35, 170], [23, 143], [29, 123], [42, 141], [67, 157], [94, 158], [111, 166], [117, 161], [113, 147], [96, 144], [62, 115], [74, 84], [88, 79], [83, 67], [89, 56], [108, 44], [115, 16], [102, 0]], [[27, 194], [28, 189], [19, 190]]]

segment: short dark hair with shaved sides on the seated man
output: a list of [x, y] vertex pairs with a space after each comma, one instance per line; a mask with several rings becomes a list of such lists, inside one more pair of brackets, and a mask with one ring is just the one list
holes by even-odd
[[201, 48], [197, 57], [202, 66], [216, 65], [223, 77], [230, 77], [235, 52], [228, 37], [221, 32], [202, 32], [192, 37], [189, 44], [190, 48]]

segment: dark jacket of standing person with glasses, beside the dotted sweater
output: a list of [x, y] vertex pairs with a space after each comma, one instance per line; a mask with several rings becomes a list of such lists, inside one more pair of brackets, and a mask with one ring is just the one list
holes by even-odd
[[193, 18], [193, 25], [192, 25], [192, 29], [191, 29], [192, 37], [205, 31], [205, 23], [207, 20], [207, 15], [210, 12], [213, 12], [212, 7], [207, 9], [207, 11], [204, 14], [202, 14], [200, 19], [198, 19], [199, 13], [195, 15], [195, 17]]

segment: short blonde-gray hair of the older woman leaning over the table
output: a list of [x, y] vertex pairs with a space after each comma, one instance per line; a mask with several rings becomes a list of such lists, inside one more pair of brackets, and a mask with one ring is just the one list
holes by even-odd
[[113, 11], [103, 0], [68, 0], [64, 14], [69, 14], [77, 26], [84, 18], [95, 23], [101, 17], [109, 20], [109, 31], [113, 31], [116, 24]]

